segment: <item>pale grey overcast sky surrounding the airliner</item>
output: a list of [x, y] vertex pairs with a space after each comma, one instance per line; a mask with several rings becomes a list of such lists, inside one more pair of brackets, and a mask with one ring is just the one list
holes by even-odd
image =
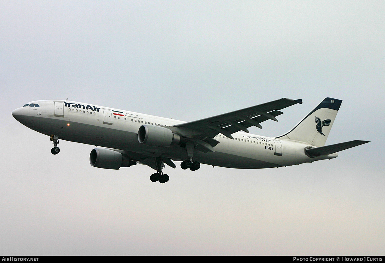
[[[383, 1], [0, 1], [1, 255], [384, 255]], [[106, 170], [17, 122], [69, 99], [193, 121], [279, 98], [290, 130], [342, 99], [336, 159]]]

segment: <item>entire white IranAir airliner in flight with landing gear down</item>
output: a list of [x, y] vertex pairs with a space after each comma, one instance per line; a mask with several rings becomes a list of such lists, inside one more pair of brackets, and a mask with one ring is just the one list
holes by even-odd
[[[52, 154], [60, 152], [59, 139], [95, 145], [90, 164], [119, 169], [144, 164], [156, 170], [152, 182], [169, 180], [165, 164], [198, 170], [201, 164], [238, 169], [282, 167], [332, 159], [339, 151], [368, 141], [325, 146], [340, 109], [340, 99], [325, 98], [293, 129], [281, 136], [250, 134], [267, 120], [278, 121], [281, 109], [302, 104], [301, 99], [278, 99], [238, 111], [184, 122], [137, 112], [68, 100], [32, 101], [12, 112], [17, 121], [48, 135]], [[103, 148], [99, 148], [103, 147]]]

